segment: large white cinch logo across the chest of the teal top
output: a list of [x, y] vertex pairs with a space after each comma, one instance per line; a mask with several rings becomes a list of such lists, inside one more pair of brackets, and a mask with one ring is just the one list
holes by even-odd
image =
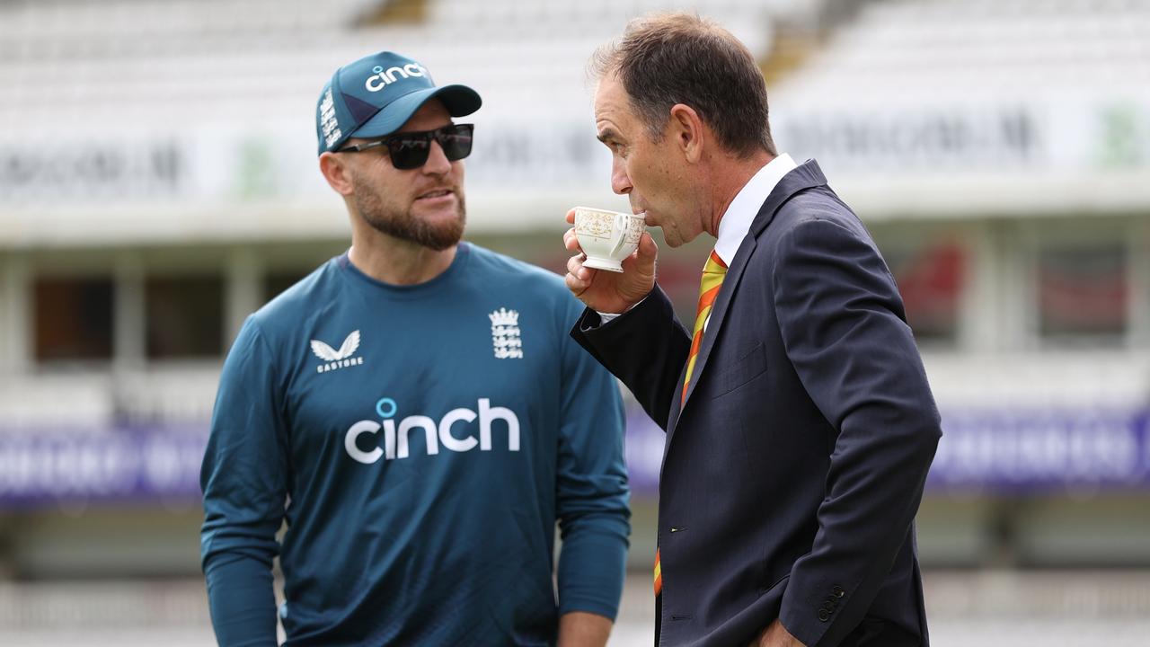
[[[409, 456], [408, 435], [413, 429], [423, 431], [423, 440], [427, 444], [428, 456], [439, 454], [439, 446], [451, 451], [470, 451], [478, 446], [480, 451], [491, 451], [491, 424], [503, 420], [507, 425], [507, 450], [519, 451], [519, 417], [515, 412], [505, 406], [491, 406], [491, 401], [481, 397], [478, 413], [470, 409], [452, 409], [439, 421], [435, 421], [427, 416], [408, 416], [396, 425], [392, 418], [399, 406], [396, 401], [385, 397], [376, 403], [375, 411], [383, 418], [383, 423], [375, 420], [360, 420], [347, 429], [344, 436], [344, 449], [347, 455], [370, 465], [379, 458], [392, 460], [396, 458], [407, 458]], [[475, 423], [478, 418], [478, 439], [475, 437]], [[462, 425], [459, 425], [462, 423]], [[452, 432], [452, 428], [455, 432]], [[360, 449], [358, 441], [363, 434], [377, 434], [383, 429], [383, 449], [375, 447], [371, 451]]]

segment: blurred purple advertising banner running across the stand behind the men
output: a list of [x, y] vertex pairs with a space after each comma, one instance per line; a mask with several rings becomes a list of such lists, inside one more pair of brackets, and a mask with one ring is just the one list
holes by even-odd
[[[1150, 489], [1150, 410], [944, 411], [933, 492]], [[636, 495], [659, 488], [665, 434], [627, 416]], [[0, 505], [54, 501], [198, 501], [205, 427], [0, 431]]]

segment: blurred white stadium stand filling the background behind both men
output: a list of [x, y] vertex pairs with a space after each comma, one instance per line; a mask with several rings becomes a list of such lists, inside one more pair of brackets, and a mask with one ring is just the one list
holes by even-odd
[[[217, 373], [346, 245], [315, 165], [336, 66], [389, 48], [476, 87], [468, 236], [559, 271], [566, 210], [624, 205], [585, 61], [660, 8], [760, 58], [780, 149], [820, 161], [903, 290], [944, 417], [919, 516], [936, 644], [1147, 644], [1141, 0], [0, 0], [0, 644], [209, 640]], [[705, 248], [661, 252], [684, 310]], [[615, 645], [649, 642], [661, 444], [632, 411]]]

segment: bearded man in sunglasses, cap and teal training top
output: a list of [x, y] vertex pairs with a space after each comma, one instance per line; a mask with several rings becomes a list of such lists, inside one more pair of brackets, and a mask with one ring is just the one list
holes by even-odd
[[473, 128], [452, 117], [480, 102], [390, 52], [320, 94], [352, 245], [252, 314], [224, 364], [201, 472], [221, 645], [275, 645], [277, 616], [292, 646], [606, 644], [622, 405], [567, 336], [562, 280], [460, 242]]

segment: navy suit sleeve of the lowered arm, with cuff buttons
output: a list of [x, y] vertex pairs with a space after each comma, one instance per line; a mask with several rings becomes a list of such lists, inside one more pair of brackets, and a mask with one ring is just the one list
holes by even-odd
[[814, 545], [791, 569], [780, 619], [808, 647], [833, 646], [890, 572], [942, 432], [895, 282], [860, 231], [796, 224], [773, 282], [787, 355], [837, 429]]

